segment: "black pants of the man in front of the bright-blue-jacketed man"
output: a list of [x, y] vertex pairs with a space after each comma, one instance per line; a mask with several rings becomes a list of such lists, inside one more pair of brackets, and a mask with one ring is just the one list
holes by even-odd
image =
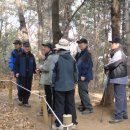
[[[31, 91], [32, 77], [19, 77], [18, 79], [19, 79], [19, 85]], [[23, 104], [28, 104], [29, 97], [30, 97], [30, 92], [20, 87], [18, 88], [19, 101], [22, 101]]]

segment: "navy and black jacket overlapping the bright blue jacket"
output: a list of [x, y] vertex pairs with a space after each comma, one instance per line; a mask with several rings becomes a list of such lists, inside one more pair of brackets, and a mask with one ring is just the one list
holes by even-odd
[[36, 70], [34, 55], [29, 52], [20, 53], [15, 62], [15, 74], [19, 73], [21, 77], [32, 77]]

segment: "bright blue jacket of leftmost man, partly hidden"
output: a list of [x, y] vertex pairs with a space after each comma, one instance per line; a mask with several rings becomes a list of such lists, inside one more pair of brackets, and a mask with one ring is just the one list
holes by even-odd
[[16, 49], [14, 49], [11, 54], [10, 54], [10, 58], [9, 58], [9, 68], [11, 71], [14, 72], [14, 63], [16, 61], [16, 57], [23, 52], [23, 49], [21, 48], [19, 51], [17, 51]]

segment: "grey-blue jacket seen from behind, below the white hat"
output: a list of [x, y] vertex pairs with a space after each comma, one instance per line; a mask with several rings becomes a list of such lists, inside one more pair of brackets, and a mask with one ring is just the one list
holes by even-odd
[[77, 67], [74, 58], [69, 51], [60, 51], [53, 56], [50, 76], [55, 91], [70, 91], [77, 81]]

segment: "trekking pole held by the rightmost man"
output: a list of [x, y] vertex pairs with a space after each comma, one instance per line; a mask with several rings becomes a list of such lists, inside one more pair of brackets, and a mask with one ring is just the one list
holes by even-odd
[[104, 78], [104, 85], [103, 85], [104, 86], [104, 91], [103, 91], [104, 99], [102, 101], [102, 112], [101, 112], [100, 122], [103, 122], [104, 106], [105, 106], [105, 101], [106, 101], [106, 90], [107, 90], [108, 84], [109, 84], [109, 76], [107, 73]]

